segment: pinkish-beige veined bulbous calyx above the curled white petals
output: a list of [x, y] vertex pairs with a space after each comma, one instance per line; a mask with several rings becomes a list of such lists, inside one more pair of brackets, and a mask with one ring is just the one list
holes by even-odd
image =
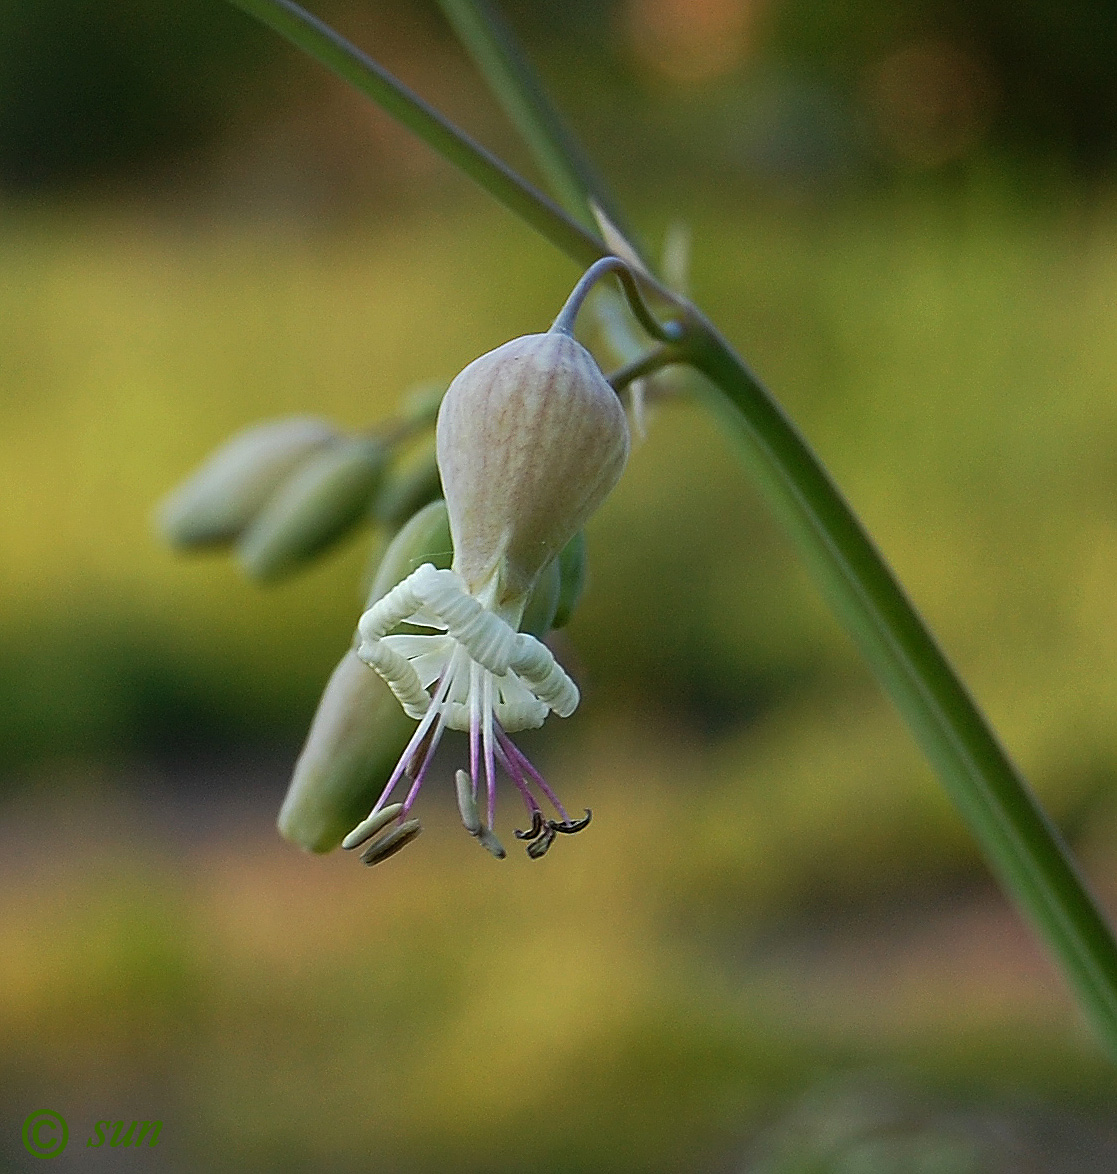
[[475, 359], [438, 413], [453, 569], [502, 609], [526, 596], [617, 484], [628, 425], [590, 352], [560, 330]]

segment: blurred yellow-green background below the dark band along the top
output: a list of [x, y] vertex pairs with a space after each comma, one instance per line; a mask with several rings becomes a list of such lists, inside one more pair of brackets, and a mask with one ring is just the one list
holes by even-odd
[[[699, 301], [1111, 876], [1112, 202], [977, 167], [743, 204], [694, 202]], [[260, 589], [152, 508], [256, 420], [383, 418], [572, 276], [438, 189], [315, 229], [7, 209], [0, 1160], [52, 1105], [206, 1170], [1112, 1165], [1112, 1074], [694, 404], [590, 527], [581, 709], [524, 740], [592, 832], [496, 865], [448, 776], [372, 876], [271, 832], [382, 538]]]

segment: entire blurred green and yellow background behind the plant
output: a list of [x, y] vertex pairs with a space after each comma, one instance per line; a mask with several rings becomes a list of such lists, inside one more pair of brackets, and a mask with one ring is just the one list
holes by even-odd
[[[530, 170], [432, 6], [317, 11]], [[1112, 6], [507, 12], [1117, 906]], [[59, 1168], [1117, 1168], [1110, 1067], [695, 404], [593, 520], [585, 700], [524, 738], [593, 828], [494, 864], [448, 744], [385, 868], [278, 839], [375, 535], [263, 591], [154, 504], [577, 275], [216, 0], [0, 14], [5, 1168], [41, 1108]]]

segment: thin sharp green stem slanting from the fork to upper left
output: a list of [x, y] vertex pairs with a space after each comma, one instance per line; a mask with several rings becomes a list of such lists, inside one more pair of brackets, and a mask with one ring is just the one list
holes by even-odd
[[571, 220], [464, 130], [292, 0], [230, 0], [230, 4], [256, 16], [356, 86], [578, 264], [586, 266], [608, 252], [593, 232]]

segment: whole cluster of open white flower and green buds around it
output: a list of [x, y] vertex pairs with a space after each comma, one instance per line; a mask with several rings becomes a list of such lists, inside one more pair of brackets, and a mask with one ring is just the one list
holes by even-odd
[[[357, 639], [280, 812], [295, 843], [362, 848], [369, 864], [398, 851], [420, 830], [412, 808], [448, 729], [469, 740], [469, 769], [455, 772], [462, 822], [494, 856], [505, 855], [498, 772], [524, 801], [516, 835], [532, 858], [590, 822], [588, 810], [571, 817], [511, 735], [578, 707], [541, 637], [577, 602], [581, 527], [628, 457], [618, 393], [572, 332], [594, 283], [618, 268], [615, 257], [591, 266], [546, 333], [480, 356], [445, 393], [418, 389], [393, 424], [349, 434], [310, 417], [257, 425], [163, 502], [174, 546], [233, 547], [255, 579], [290, 574], [362, 524], [379, 535]], [[416, 453], [431, 423], [433, 451], [428, 441]]]

